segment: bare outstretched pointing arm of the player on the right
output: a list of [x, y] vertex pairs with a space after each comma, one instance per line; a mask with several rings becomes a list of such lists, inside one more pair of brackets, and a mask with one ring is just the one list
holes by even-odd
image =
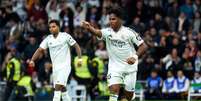
[[102, 33], [101, 30], [99, 29], [95, 29], [89, 22], [87, 21], [83, 21], [81, 26], [85, 29], [87, 29], [89, 32], [91, 32], [93, 35], [101, 38], [102, 37]]

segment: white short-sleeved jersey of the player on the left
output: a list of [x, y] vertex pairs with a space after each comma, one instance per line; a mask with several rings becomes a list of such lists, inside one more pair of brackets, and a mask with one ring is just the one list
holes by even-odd
[[65, 32], [59, 32], [55, 38], [53, 35], [48, 35], [40, 44], [43, 49], [49, 48], [50, 58], [53, 65], [53, 72], [62, 68], [71, 67], [70, 46], [76, 41]]

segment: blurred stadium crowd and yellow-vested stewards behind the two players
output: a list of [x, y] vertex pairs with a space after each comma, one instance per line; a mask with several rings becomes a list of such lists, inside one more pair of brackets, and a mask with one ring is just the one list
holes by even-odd
[[[84, 69], [80, 70], [75, 50], [71, 49], [73, 69], [69, 85], [85, 85], [91, 99], [107, 96], [108, 54], [105, 43], [83, 30], [80, 23], [87, 20], [96, 28], [107, 27], [107, 11], [112, 6], [123, 8], [124, 25], [140, 33], [149, 46], [140, 58], [138, 68], [138, 80], [147, 81], [147, 99], [153, 97], [151, 94], [159, 98], [157, 95], [163, 97], [172, 92], [182, 92], [179, 96], [182, 98], [191, 81], [195, 79], [201, 83], [200, 0], [1, 0], [0, 81], [16, 86], [21, 77], [28, 75], [33, 92], [43, 87], [51, 91], [48, 87], [52, 85], [52, 64], [48, 51], [41, 55], [35, 67], [29, 66], [27, 60], [41, 40], [50, 34], [48, 21], [57, 19], [61, 31], [72, 35], [81, 46], [86, 60]], [[170, 87], [177, 88], [181, 84], [179, 87], [185, 90], [166, 91], [163, 86], [166, 80], [172, 80], [168, 80], [171, 77], [176, 86]]]

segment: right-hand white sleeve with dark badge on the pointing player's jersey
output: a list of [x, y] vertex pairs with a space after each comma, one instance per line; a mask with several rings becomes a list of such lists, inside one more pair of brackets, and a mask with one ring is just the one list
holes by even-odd
[[144, 40], [140, 37], [139, 33], [135, 32], [134, 30], [130, 30], [131, 35], [131, 42], [136, 44], [137, 46], [140, 46]]

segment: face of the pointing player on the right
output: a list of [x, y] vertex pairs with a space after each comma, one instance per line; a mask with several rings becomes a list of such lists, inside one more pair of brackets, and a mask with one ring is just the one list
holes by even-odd
[[112, 29], [117, 29], [120, 26], [120, 19], [117, 16], [115, 16], [115, 14], [110, 14], [109, 23]]

